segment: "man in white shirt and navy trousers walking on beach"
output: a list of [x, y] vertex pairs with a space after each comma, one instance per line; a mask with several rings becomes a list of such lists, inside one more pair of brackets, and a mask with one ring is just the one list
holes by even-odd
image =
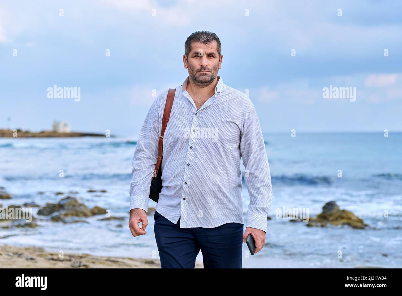
[[[176, 87], [164, 133], [163, 187], [154, 214], [162, 268], [194, 268], [200, 249], [204, 268], [241, 268], [248, 234], [255, 240], [255, 253], [265, 244], [272, 188], [264, 139], [251, 100], [217, 75], [222, 58], [214, 33], [197, 31], [187, 38], [183, 62], [189, 76]], [[146, 234], [167, 93], [152, 104], [133, 157], [133, 236]], [[244, 234], [240, 157], [250, 195]]]

